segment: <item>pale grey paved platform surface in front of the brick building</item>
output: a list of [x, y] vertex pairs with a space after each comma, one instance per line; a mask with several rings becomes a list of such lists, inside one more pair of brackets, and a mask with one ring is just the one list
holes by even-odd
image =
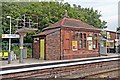
[[[114, 56], [120, 56], [120, 53], [107, 53], [106, 55], [101, 55], [99, 56], [100, 58], [109, 58], [109, 57], [114, 57]], [[74, 60], [85, 60], [85, 59], [95, 59], [99, 57], [91, 57], [91, 58], [81, 58], [81, 59], [72, 59]], [[1, 68], [4, 67], [16, 67], [16, 66], [24, 66], [24, 65], [32, 65], [32, 64], [45, 64], [45, 63], [54, 63], [54, 62], [61, 62], [61, 61], [71, 61], [70, 60], [56, 60], [56, 61], [48, 61], [48, 60], [39, 60], [39, 59], [34, 59], [34, 58], [27, 58], [23, 60], [23, 63], [19, 63], [19, 59], [11, 61], [11, 64], [8, 64], [7, 60], [1, 60], [0, 61], [0, 66]]]

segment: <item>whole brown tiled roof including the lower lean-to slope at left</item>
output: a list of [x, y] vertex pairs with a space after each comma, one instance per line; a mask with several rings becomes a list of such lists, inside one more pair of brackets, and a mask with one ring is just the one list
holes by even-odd
[[87, 24], [85, 22], [82, 22], [81, 20], [64, 17], [60, 21], [58, 21], [58, 22], [44, 28], [43, 32], [40, 32], [39, 34], [33, 35], [33, 37], [48, 35], [50, 33], [53, 33], [55, 31], [57, 31], [61, 27], [71, 27], [71, 28], [80, 28], [80, 29], [84, 28], [84, 29], [88, 29], [88, 30], [90, 29], [90, 30], [98, 30], [98, 31], [100, 31], [100, 29], [95, 28], [92, 25], [89, 25], [89, 24]]

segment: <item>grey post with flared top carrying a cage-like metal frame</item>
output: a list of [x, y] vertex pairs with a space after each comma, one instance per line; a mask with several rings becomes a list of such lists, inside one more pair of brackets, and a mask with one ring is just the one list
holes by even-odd
[[[23, 63], [23, 39], [24, 39], [24, 36], [26, 36], [26, 34], [27, 33], [29, 33], [29, 32], [33, 32], [33, 31], [36, 31], [36, 30], [38, 30], [37, 28], [33, 28], [32, 27], [32, 24], [31, 23], [34, 23], [34, 22], [32, 22], [32, 19], [30, 19], [28, 16], [30, 16], [30, 15], [22, 15], [22, 17], [20, 17], [20, 19], [18, 19], [18, 20], [20, 20], [21, 22], [22, 21], [24, 21], [23, 22], [23, 26], [21, 26], [21, 28], [18, 28], [17, 30], [16, 30], [16, 33], [18, 33], [19, 34], [19, 36], [20, 36], [20, 60], [19, 60], [19, 63]], [[38, 25], [38, 16], [36, 16], [36, 15], [33, 15], [34, 17], [36, 17], [36, 21], [37, 21], [37, 23], [34, 23], [34, 24], [37, 24]], [[18, 21], [17, 21], [18, 22]], [[20, 25], [17, 25], [17, 27], [19, 27]]]

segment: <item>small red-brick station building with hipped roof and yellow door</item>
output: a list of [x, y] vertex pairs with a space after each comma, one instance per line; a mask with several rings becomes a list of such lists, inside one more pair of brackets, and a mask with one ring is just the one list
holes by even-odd
[[33, 35], [33, 58], [62, 60], [99, 56], [100, 30], [81, 20], [64, 17]]

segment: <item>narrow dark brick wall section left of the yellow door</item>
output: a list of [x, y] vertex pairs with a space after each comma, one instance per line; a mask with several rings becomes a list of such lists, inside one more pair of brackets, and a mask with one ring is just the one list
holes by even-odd
[[37, 58], [39, 59], [40, 58], [40, 51], [39, 51], [39, 40], [36, 41], [36, 42], [33, 42], [33, 58]]

